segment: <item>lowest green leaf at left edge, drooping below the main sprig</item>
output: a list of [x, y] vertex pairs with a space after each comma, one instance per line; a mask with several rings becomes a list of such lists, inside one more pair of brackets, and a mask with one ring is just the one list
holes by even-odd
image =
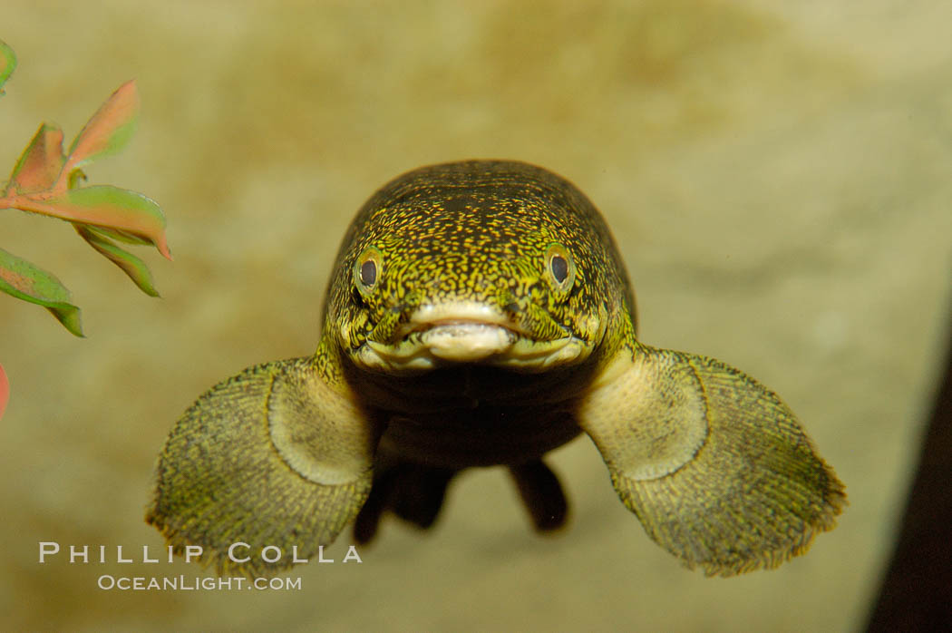
[[79, 308], [69, 303], [69, 290], [52, 273], [0, 248], [0, 291], [46, 307], [76, 336], [83, 336]]

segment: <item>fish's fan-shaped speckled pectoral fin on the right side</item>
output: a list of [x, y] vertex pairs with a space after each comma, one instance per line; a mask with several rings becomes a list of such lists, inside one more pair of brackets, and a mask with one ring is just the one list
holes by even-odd
[[578, 418], [648, 535], [708, 575], [802, 554], [845, 504], [789, 407], [711, 358], [620, 352]]

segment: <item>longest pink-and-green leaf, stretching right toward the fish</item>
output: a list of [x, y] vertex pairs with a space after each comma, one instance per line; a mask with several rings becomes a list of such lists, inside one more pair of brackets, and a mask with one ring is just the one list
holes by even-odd
[[63, 194], [17, 196], [13, 206], [85, 225], [105, 227], [147, 241], [171, 259], [166, 243], [166, 217], [159, 205], [135, 191], [96, 185]]

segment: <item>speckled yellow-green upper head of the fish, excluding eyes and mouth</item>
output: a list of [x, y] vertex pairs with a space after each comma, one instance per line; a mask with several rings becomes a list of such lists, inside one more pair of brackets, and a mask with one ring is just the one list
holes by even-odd
[[[567, 296], [545, 283], [553, 245], [575, 263]], [[354, 301], [351, 268], [367, 248], [381, 253], [382, 283]], [[634, 297], [602, 216], [565, 179], [511, 161], [420, 168], [388, 183], [347, 229], [327, 296], [325, 331], [348, 324], [348, 351], [367, 337], [393, 343], [393, 315], [445, 299], [506, 310], [540, 341], [565, 330], [593, 342], [600, 310], [616, 338], [634, 325]]]

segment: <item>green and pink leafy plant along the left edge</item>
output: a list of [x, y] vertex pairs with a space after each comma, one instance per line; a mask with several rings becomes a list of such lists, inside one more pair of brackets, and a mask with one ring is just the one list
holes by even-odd
[[[0, 41], [0, 95], [16, 68], [16, 56]], [[44, 123], [0, 186], [0, 210], [16, 208], [69, 222], [90, 247], [120, 267], [135, 285], [158, 296], [149, 267], [116, 244], [150, 245], [171, 259], [166, 219], [149, 197], [110, 185], [84, 186], [83, 168], [120, 151], [135, 131], [139, 95], [135, 82], [119, 87], [63, 150], [63, 130]], [[46, 307], [69, 332], [83, 336], [80, 310], [55, 275], [0, 248], [0, 291]], [[9, 385], [0, 367], [0, 415]]]

